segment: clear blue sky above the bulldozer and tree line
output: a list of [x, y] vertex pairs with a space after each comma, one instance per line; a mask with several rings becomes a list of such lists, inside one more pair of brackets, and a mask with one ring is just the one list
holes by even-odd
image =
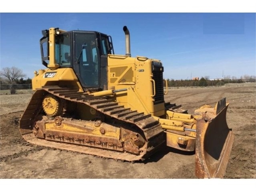
[[255, 13], [1, 13], [0, 62], [32, 78], [43, 69], [41, 30], [94, 30], [112, 36], [115, 54], [160, 59], [167, 79], [256, 75]]

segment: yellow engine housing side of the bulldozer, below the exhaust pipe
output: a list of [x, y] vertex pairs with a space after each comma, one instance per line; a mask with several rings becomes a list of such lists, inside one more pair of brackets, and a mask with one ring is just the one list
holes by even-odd
[[132, 110], [151, 113], [155, 116], [165, 114], [164, 103], [154, 105], [152, 60], [147, 57], [127, 57], [109, 55], [108, 89], [128, 88], [127, 93], [116, 95], [117, 101]]

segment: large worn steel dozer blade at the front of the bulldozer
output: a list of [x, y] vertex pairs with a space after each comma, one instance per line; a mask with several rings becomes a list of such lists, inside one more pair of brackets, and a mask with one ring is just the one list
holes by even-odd
[[[226, 98], [217, 102], [214, 110], [201, 108], [202, 119], [196, 129], [196, 176], [198, 178], [223, 178], [234, 134], [228, 128]], [[209, 110], [208, 110], [209, 109]], [[213, 109], [213, 108], [211, 108]]]

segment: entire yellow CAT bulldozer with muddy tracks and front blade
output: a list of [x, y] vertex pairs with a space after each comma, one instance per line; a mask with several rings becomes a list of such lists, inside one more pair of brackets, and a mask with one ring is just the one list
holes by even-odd
[[222, 178], [234, 135], [226, 123], [226, 98], [188, 114], [165, 102], [160, 60], [116, 55], [112, 38], [95, 31], [42, 31], [47, 69], [34, 72], [35, 91], [20, 119], [32, 144], [122, 161], [149, 158], [169, 146], [195, 151], [196, 176]]

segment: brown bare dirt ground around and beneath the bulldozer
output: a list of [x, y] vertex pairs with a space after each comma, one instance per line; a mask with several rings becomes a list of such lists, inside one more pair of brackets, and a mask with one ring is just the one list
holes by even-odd
[[[34, 146], [19, 132], [19, 119], [31, 98], [0, 95], [0, 178], [196, 178], [195, 154], [164, 147], [143, 162], [121, 162]], [[229, 128], [235, 135], [224, 178], [256, 178], [256, 86], [173, 89], [165, 101], [193, 113], [226, 97]]]

